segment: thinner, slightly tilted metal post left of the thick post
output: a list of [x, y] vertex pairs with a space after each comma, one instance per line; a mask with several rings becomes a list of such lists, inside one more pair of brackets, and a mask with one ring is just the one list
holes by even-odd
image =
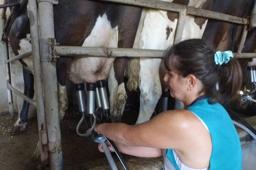
[[29, 0], [28, 15], [30, 18], [30, 32], [31, 32], [31, 44], [32, 44], [32, 56], [33, 56], [33, 69], [34, 69], [34, 88], [35, 88], [35, 100], [36, 100], [36, 112], [37, 112], [37, 126], [39, 131], [39, 151], [41, 156], [41, 164], [48, 164], [48, 151], [44, 149], [47, 145], [46, 136], [46, 122], [44, 111], [44, 98], [43, 98], [43, 84], [41, 75], [41, 63], [40, 63], [40, 48], [39, 48], [39, 26], [37, 18], [37, 4], [34, 0]]

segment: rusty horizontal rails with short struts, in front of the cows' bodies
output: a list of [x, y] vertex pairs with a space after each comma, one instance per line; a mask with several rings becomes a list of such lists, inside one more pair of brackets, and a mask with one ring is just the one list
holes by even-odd
[[[155, 0], [100, 0], [106, 2], [114, 2], [114, 3], [122, 3], [127, 5], [135, 5], [145, 8], [152, 8], [152, 9], [160, 9], [166, 11], [174, 11], [179, 13], [177, 28], [174, 37], [174, 43], [178, 43], [181, 40], [182, 33], [184, 30], [184, 17], [186, 15], [191, 16], [199, 16], [205, 17], [210, 19], [216, 19], [220, 21], [232, 22], [244, 25], [244, 29], [242, 32], [242, 37], [240, 39], [238, 51], [233, 53], [235, 58], [256, 58], [255, 53], [241, 53], [242, 48], [244, 48], [245, 39], [248, 32], [248, 26], [250, 20], [246, 18], [239, 18], [231, 15], [226, 15], [219, 12], [214, 12], [210, 10], [204, 10], [194, 7], [189, 7], [185, 5], [164, 2], [164, 1], [155, 1]], [[179, 22], [180, 20], [180, 22]], [[52, 46], [53, 58], [57, 58], [59, 56], [112, 56], [112, 57], [147, 57], [147, 58], [162, 58], [163, 50], [150, 50], [148, 49], [123, 49], [123, 48], [94, 48], [94, 47], [74, 47], [74, 46]], [[106, 52], [107, 51], [107, 52]]]

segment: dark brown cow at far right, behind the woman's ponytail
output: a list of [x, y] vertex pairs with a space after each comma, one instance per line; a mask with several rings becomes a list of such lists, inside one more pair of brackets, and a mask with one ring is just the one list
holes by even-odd
[[[215, 1], [213, 4], [213, 11], [225, 13], [228, 15], [241, 17], [241, 18], [250, 18], [251, 10], [255, 1], [239, 1], [235, 0], [229, 1]], [[239, 10], [237, 10], [239, 9]], [[249, 26], [248, 26], [249, 28]], [[210, 19], [206, 26], [206, 31], [204, 32], [202, 39], [207, 39], [211, 41], [220, 51], [231, 50], [237, 52], [238, 45], [240, 43], [240, 38], [242, 34], [242, 25], [234, 24], [230, 22], [217, 21]], [[254, 28], [248, 31], [244, 48], [241, 52], [252, 53], [256, 50], [256, 30]], [[243, 86], [247, 84], [247, 64], [251, 59], [238, 59], [241, 67], [244, 69], [244, 83]], [[226, 89], [228, 90], [228, 89]], [[252, 94], [253, 95], [253, 94]], [[254, 96], [254, 95], [253, 95]], [[237, 106], [237, 104], [229, 104], [228, 101], [225, 101], [226, 105], [233, 107], [234, 109], [239, 108], [239, 111], [252, 111], [251, 108], [255, 109], [255, 104], [251, 105], [251, 108], [245, 108], [246, 106]], [[241, 104], [241, 103], [240, 103]], [[234, 106], [235, 105], [235, 106]], [[242, 109], [243, 108], [243, 109]], [[254, 111], [253, 111], [254, 112]]]

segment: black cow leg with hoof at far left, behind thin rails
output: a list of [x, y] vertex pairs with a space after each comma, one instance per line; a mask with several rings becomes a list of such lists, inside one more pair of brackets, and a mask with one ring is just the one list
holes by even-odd
[[[34, 76], [28, 69], [23, 67], [24, 94], [30, 98], [34, 96]], [[29, 103], [24, 101], [19, 118], [14, 124], [12, 132], [25, 131], [28, 123]]]

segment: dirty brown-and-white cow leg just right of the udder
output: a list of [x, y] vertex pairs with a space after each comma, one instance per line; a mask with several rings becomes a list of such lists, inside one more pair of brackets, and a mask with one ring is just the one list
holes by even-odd
[[124, 72], [127, 59], [117, 58], [114, 60], [108, 78], [110, 113], [114, 122], [120, 122], [126, 102], [126, 92], [124, 87]]

